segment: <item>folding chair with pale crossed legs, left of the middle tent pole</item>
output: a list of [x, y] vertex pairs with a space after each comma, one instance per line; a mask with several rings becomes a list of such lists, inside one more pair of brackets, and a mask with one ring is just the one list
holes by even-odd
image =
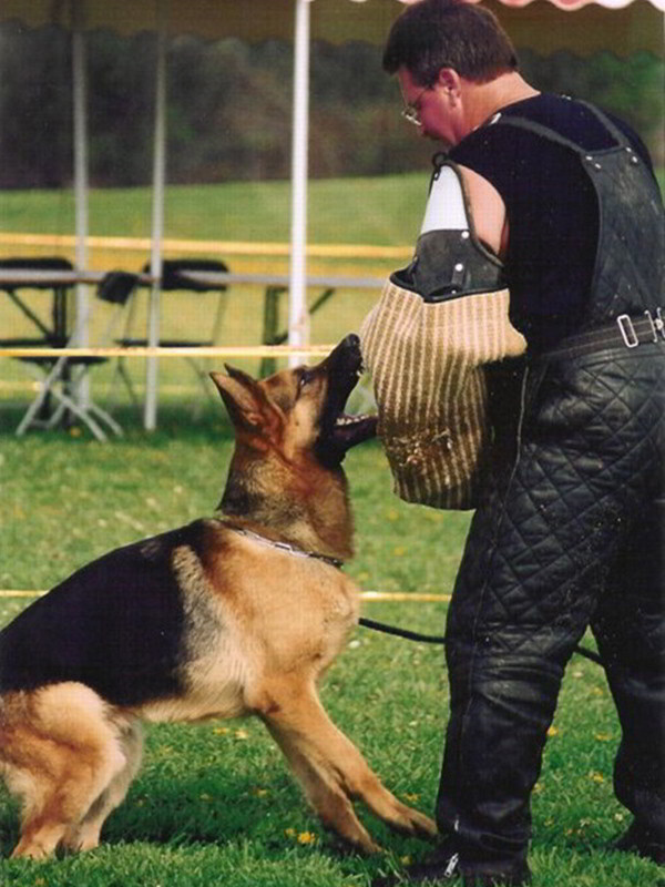
[[[130, 295], [136, 285], [136, 275], [124, 274], [123, 272], [112, 272], [104, 276], [98, 287], [96, 296], [102, 302], [111, 303], [115, 306], [110, 320], [106, 324], [104, 334], [101, 337], [101, 345], [112, 341], [114, 328], [117, 326], [121, 309], [126, 304]], [[89, 318], [83, 318], [86, 322]], [[75, 345], [75, 335], [72, 335], [64, 347]], [[55, 346], [61, 347], [61, 346]], [[62, 355], [55, 357], [51, 355], [19, 358], [38, 366], [44, 374], [41, 381], [39, 395], [30, 405], [23, 416], [17, 436], [21, 437], [29, 428], [52, 428], [66, 412], [76, 416], [92, 431], [98, 440], [106, 440], [106, 434], [101, 427], [103, 422], [113, 434], [122, 436], [122, 428], [110, 416], [106, 410], [99, 407], [92, 399], [84, 401], [80, 397], [80, 389], [85, 373], [94, 366], [106, 363], [109, 358], [94, 355]], [[74, 367], [82, 368], [83, 371], [72, 374]], [[53, 397], [58, 400], [58, 407], [53, 412], [43, 417], [42, 406], [47, 398]], [[41, 415], [40, 415], [41, 414]]]

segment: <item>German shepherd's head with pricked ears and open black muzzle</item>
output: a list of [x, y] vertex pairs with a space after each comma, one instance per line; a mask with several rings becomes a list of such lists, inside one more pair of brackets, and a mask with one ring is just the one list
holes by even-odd
[[347, 450], [376, 434], [376, 416], [347, 416], [361, 373], [360, 343], [347, 336], [316, 366], [285, 369], [259, 381], [226, 365], [212, 378], [236, 428], [238, 442], [276, 450], [288, 461], [314, 456], [340, 465]]

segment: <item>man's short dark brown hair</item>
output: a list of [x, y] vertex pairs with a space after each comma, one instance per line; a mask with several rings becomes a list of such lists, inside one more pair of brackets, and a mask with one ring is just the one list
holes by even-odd
[[518, 68], [514, 47], [489, 9], [468, 0], [419, 0], [395, 21], [383, 51], [389, 74], [405, 67], [421, 86], [442, 68], [477, 82]]

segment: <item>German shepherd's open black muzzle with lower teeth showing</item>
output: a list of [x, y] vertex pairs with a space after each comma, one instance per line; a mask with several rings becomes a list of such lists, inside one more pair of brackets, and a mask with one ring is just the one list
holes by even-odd
[[317, 455], [325, 461], [340, 462], [347, 450], [377, 432], [377, 416], [345, 412], [349, 395], [362, 374], [360, 340], [351, 334], [319, 365], [327, 373], [328, 395], [321, 414]]

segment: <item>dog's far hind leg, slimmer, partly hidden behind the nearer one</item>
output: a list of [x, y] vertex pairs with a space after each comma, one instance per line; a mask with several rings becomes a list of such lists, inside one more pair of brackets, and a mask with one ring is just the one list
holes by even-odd
[[141, 767], [143, 755], [143, 731], [137, 721], [129, 723], [120, 734], [124, 767], [116, 773], [101, 795], [93, 802], [83, 818], [68, 828], [62, 846], [73, 853], [90, 850], [100, 843], [100, 834], [111, 813], [124, 801], [134, 776]]

